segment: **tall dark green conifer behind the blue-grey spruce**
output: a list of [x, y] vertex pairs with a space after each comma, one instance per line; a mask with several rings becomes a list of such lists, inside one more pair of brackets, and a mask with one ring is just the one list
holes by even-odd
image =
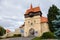
[[55, 6], [55, 5], [52, 5], [52, 7], [49, 8], [48, 10], [48, 24], [49, 24], [49, 29], [51, 32], [55, 32], [55, 28], [53, 27], [53, 24], [52, 24], [52, 21], [57, 19], [56, 18], [56, 15], [59, 15], [59, 9]]

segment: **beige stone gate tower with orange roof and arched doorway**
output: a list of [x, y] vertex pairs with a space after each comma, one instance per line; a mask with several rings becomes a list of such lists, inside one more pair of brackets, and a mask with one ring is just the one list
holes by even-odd
[[26, 11], [25, 16], [25, 26], [24, 26], [24, 36], [41, 36], [41, 10], [40, 7], [33, 8], [32, 4], [30, 9]]

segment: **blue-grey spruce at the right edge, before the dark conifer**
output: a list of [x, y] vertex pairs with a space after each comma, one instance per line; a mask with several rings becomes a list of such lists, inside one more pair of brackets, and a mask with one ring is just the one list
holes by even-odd
[[58, 38], [60, 38], [60, 10], [58, 12], [59, 12], [59, 15], [56, 15], [57, 19], [53, 20], [52, 24], [56, 30], [54, 33]]

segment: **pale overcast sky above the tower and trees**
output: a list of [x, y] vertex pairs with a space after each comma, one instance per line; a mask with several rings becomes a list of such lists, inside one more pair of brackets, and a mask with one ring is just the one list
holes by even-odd
[[40, 7], [44, 17], [52, 4], [60, 8], [60, 0], [0, 0], [0, 25], [14, 31], [24, 23], [24, 13], [31, 3]]

